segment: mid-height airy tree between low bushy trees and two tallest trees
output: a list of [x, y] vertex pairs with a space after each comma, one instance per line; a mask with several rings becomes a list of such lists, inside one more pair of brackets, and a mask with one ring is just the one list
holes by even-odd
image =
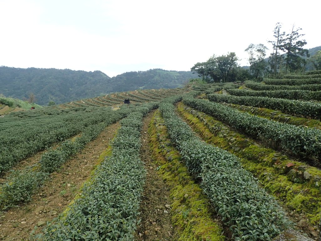
[[250, 75], [253, 74], [256, 79], [259, 76], [263, 76], [264, 71], [266, 69], [267, 63], [265, 62], [267, 48], [263, 44], [254, 45], [251, 43], [245, 51], [248, 52], [249, 58], [248, 61], [250, 63]]

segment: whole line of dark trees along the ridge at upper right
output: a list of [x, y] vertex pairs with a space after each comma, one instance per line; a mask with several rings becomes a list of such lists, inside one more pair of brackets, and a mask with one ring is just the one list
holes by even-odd
[[305, 70], [321, 70], [321, 50], [310, 57], [301, 28], [292, 26], [289, 33], [282, 31], [282, 24], [276, 23], [273, 39], [268, 41], [273, 51], [266, 58], [268, 48], [264, 44], [251, 43], [245, 51], [248, 53], [248, 68], [239, 67], [239, 58], [234, 52], [227, 55], [213, 55], [206, 62], [196, 63], [192, 72], [196, 72], [203, 81], [230, 82], [245, 79], [260, 80], [264, 76], [280, 77], [284, 74], [303, 73]]

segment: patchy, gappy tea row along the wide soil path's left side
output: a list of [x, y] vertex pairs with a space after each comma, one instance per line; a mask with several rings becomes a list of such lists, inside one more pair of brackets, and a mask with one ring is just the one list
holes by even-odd
[[[95, 110], [97, 112], [97, 109]], [[124, 118], [129, 114], [130, 110], [122, 108], [117, 111], [107, 112], [105, 109], [104, 112], [99, 112], [102, 118], [98, 118], [97, 113], [94, 111], [89, 112], [99, 122], [90, 123], [93, 120], [83, 119], [83, 121], [86, 121], [84, 124], [87, 126], [82, 129], [80, 137], [74, 141], [65, 140], [57, 148], [48, 149], [35, 166], [31, 166], [21, 172], [14, 172], [9, 177], [9, 181], [1, 186], [0, 208], [6, 210], [21, 202], [30, 201], [34, 192], [46, 181], [50, 173], [59, 170], [71, 156], [79, 152], [86, 143], [96, 138], [106, 126]], [[103, 116], [103, 114], [106, 116]]]

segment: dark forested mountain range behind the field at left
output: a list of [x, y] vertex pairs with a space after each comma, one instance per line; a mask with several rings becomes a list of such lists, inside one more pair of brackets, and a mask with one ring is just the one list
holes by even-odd
[[189, 71], [127, 72], [110, 78], [101, 71], [86, 72], [70, 69], [0, 67], [0, 94], [18, 99], [35, 95], [35, 103], [47, 105], [110, 92], [135, 89], [159, 89], [182, 87], [190, 78], [197, 77]]

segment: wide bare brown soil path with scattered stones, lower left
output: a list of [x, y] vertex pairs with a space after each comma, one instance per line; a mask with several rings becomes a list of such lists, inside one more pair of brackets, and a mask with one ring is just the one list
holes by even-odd
[[33, 201], [1, 213], [0, 240], [29, 240], [35, 226], [38, 226], [38, 233], [46, 221], [65, 210], [82, 183], [89, 178], [119, 126], [117, 122], [106, 127], [79, 154], [68, 160], [61, 171], [52, 173], [50, 180], [33, 196]]

